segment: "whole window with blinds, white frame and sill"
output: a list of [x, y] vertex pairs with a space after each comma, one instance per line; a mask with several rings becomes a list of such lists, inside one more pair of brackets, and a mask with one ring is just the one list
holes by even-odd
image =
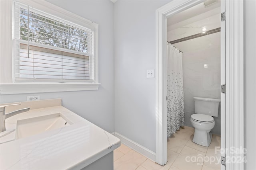
[[44, 0], [0, 4], [0, 94], [98, 90], [98, 24]]

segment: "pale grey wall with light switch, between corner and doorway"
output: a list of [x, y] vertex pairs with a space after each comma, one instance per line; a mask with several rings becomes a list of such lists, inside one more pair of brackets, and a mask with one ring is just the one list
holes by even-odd
[[169, 1], [114, 4], [115, 131], [156, 151], [156, 9]]

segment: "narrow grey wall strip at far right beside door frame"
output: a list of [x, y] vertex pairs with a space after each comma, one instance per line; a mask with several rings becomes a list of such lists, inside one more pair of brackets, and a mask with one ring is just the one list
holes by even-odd
[[256, 1], [244, 1], [244, 147], [246, 170], [256, 169]]

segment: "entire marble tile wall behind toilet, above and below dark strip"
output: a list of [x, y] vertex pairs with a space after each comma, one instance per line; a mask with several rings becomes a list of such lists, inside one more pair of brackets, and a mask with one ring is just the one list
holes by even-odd
[[[174, 41], [220, 27], [220, 4], [208, 11], [198, 8], [195, 13], [188, 11], [178, 17], [174, 15], [167, 21], [167, 40]], [[192, 9], [192, 8], [191, 8]], [[198, 12], [198, 13], [197, 13]], [[192, 14], [198, 15], [192, 15]], [[181, 20], [180, 18], [185, 18]], [[194, 114], [193, 97], [220, 99], [220, 32], [195, 39], [174, 43], [183, 52], [183, 85], [185, 104], [185, 125], [192, 127], [190, 117]], [[212, 133], [220, 135], [220, 107], [218, 117], [214, 117], [215, 126]]]

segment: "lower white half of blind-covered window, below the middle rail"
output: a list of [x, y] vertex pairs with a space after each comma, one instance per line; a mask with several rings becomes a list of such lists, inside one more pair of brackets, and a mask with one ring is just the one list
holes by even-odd
[[89, 57], [42, 47], [20, 44], [16, 61], [19, 78], [88, 80]]

